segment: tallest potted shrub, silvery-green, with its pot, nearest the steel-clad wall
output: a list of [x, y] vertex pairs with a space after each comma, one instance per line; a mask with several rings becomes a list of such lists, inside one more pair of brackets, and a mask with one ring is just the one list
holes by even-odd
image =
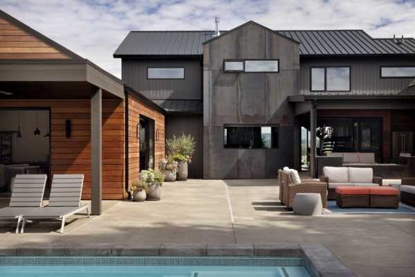
[[189, 163], [192, 162], [192, 155], [194, 153], [194, 148], [196, 143], [194, 142], [194, 137], [185, 134], [181, 136], [174, 136], [172, 139], [166, 140], [167, 150], [172, 156], [174, 161], [177, 161], [177, 180], [187, 180], [187, 168]]

